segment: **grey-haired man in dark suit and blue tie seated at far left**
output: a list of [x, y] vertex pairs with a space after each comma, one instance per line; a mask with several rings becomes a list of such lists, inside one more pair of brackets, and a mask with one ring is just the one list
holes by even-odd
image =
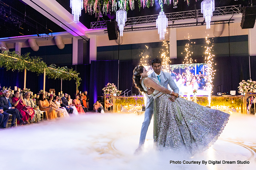
[[3, 91], [4, 97], [0, 98], [0, 109], [3, 109], [6, 113], [12, 114], [12, 125], [11, 127], [15, 126], [15, 120], [19, 121], [19, 125], [28, 124], [22, 120], [22, 115], [18, 109], [14, 108], [12, 98], [10, 98], [10, 91], [4, 90]]

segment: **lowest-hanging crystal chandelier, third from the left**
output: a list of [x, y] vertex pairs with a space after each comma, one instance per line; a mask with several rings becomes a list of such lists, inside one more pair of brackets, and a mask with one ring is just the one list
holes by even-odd
[[168, 27], [168, 19], [164, 12], [160, 12], [156, 19], [156, 28], [161, 40], [165, 39], [166, 27]]

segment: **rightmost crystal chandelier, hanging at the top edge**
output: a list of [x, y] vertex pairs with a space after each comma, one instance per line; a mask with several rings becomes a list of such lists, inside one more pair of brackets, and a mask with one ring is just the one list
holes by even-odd
[[201, 3], [201, 13], [204, 14], [204, 19], [206, 22], [206, 29], [210, 29], [210, 22], [212, 17], [212, 12], [214, 11], [214, 0], [204, 0]]

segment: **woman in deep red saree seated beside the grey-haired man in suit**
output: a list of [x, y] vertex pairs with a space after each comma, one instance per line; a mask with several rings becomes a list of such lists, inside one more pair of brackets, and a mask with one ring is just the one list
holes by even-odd
[[[23, 99], [23, 96], [19, 94], [19, 91], [14, 91], [14, 97], [12, 98], [13, 105], [16, 109], [19, 110], [19, 112], [22, 115], [22, 120], [27, 121], [29, 119], [29, 116], [31, 116], [31, 121], [32, 122], [34, 119], [34, 110], [33, 108], [27, 109], [26, 108], [26, 102]], [[26, 112], [27, 110], [27, 112]], [[28, 113], [29, 112], [29, 113]]]

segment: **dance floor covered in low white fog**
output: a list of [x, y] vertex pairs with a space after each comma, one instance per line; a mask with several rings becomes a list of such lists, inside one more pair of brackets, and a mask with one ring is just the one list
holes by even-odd
[[254, 115], [233, 113], [218, 141], [193, 157], [155, 151], [153, 121], [143, 152], [134, 155], [143, 120], [144, 114], [89, 113], [0, 130], [0, 169], [255, 169]]

